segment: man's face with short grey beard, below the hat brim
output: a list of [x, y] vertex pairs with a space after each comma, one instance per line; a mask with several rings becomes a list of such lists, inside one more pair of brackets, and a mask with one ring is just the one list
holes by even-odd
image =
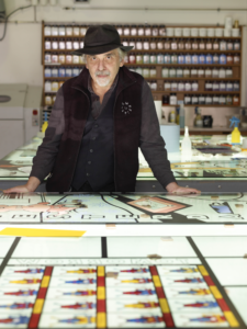
[[111, 86], [119, 72], [120, 67], [124, 65], [124, 59], [120, 59], [117, 49], [113, 49], [100, 55], [86, 56], [86, 67], [88, 68], [93, 82], [99, 87]]

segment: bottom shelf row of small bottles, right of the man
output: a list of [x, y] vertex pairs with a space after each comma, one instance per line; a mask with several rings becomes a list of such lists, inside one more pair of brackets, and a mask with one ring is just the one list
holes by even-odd
[[[239, 106], [239, 95], [218, 95], [218, 94], [184, 94], [184, 105], [222, 105], [222, 106]], [[177, 105], [178, 98], [176, 93], [162, 95], [162, 105]]]

